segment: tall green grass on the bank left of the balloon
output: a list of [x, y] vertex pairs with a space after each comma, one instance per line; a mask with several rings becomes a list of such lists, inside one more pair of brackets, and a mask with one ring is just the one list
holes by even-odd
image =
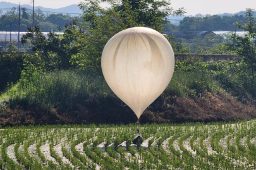
[[20, 83], [15, 91], [10, 89], [3, 94], [5, 98], [9, 95], [6, 105], [72, 109], [77, 104], [86, 105], [90, 98], [113, 95], [104, 78], [95, 71], [55, 71], [34, 76], [28, 84]]

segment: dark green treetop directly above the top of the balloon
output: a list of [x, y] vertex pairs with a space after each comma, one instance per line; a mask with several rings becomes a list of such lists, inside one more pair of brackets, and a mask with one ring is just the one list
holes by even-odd
[[[176, 11], [170, 7], [170, 1], [152, 1], [152, 0], [123, 0], [108, 1], [117, 13], [123, 16], [123, 21], [128, 28], [133, 26], [148, 26], [154, 30], [163, 31], [162, 26], [169, 23], [167, 16], [170, 14], [183, 14], [183, 9]], [[130, 21], [128, 21], [130, 20]], [[135, 25], [133, 25], [135, 23]]]

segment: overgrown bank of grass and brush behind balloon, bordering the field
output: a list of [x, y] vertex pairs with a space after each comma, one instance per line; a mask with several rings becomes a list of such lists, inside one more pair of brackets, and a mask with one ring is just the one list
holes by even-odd
[[[11, 124], [130, 123], [136, 119], [130, 108], [109, 89], [101, 71], [76, 69], [45, 73], [26, 69], [19, 84], [0, 97], [3, 118], [16, 114], [15, 111], [25, 114], [20, 115], [18, 122], [9, 120]], [[241, 59], [176, 60], [176, 71], [168, 88], [145, 111], [141, 122], [253, 118], [255, 106], [250, 103], [255, 96], [250, 91], [251, 80], [247, 74], [247, 65]], [[22, 122], [23, 119], [27, 122]]]

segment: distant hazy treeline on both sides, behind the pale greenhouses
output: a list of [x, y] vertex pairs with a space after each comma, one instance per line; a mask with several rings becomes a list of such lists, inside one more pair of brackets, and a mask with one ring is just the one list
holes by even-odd
[[[18, 7], [0, 15], [0, 31], [18, 31]], [[68, 14], [47, 14], [39, 8], [35, 9], [35, 24], [39, 25], [42, 31], [57, 30], [64, 28], [64, 25], [71, 21], [80, 20], [79, 16], [72, 17]], [[150, 20], [149, 20], [150, 21]], [[164, 25], [164, 31], [241, 31], [234, 26], [234, 23], [247, 23], [247, 18], [243, 13], [235, 16], [212, 15], [205, 17], [185, 17], [176, 26], [171, 23]], [[32, 26], [32, 10], [21, 8], [20, 31], [27, 31], [27, 27]]]

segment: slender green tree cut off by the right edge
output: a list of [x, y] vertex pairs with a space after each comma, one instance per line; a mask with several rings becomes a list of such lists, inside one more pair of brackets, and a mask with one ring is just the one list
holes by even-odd
[[248, 20], [246, 24], [242, 25], [241, 23], [235, 23], [235, 26], [247, 31], [247, 34], [242, 37], [233, 33], [230, 38], [233, 40], [234, 44], [229, 45], [229, 47], [235, 50], [238, 55], [241, 55], [243, 61], [247, 64], [247, 67], [250, 70], [249, 76], [251, 80], [251, 88], [254, 91], [256, 72], [256, 18], [253, 16], [253, 9], [248, 8], [245, 17]]

